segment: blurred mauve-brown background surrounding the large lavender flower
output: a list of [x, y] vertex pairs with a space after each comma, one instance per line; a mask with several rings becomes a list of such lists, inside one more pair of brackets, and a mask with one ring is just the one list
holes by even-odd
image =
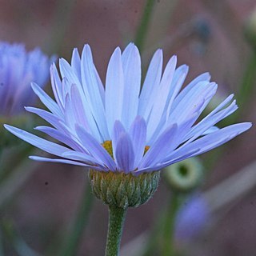
[[[116, 46], [123, 49], [135, 40], [145, 8], [145, 0], [2, 0], [0, 39], [25, 43], [27, 50], [39, 46], [49, 56], [57, 54], [69, 62], [74, 47], [81, 53], [83, 45], [89, 43], [105, 81], [110, 54]], [[190, 66], [186, 83], [209, 71], [218, 83], [216, 101], [234, 92], [238, 106], [242, 105], [235, 121], [255, 122], [255, 8], [255, 0], [155, 1], [141, 49], [144, 70], [159, 47], [164, 50], [165, 63], [177, 54], [178, 65]], [[46, 91], [51, 94], [50, 82]], [[38, 120], [37, 125], [41, 124]], [[180, 255], [255, 255], [256, 186], [246, 183], [255, 180], [255, 134], [253, 127], [221, 150], [202, 155], [207, 174], [198, 193], [215, 203], [210, 206], [214, 212], [198, 234], [177, 238], [176, 246], [183, 248]], [[11, 160], [22, 162], [18, 158]], [[245, 176], [233, 175], [247, 170], [246, 166], [250, 166], [250, 174], [245, 174], [249, 178], [237, 187], [236, 182]], [[222, 183], [230, 177], [236, 178]], [[59, 251], [72, 230], [83, 194], [88, 193], [86, 179], [87, 171], [82, 167], [29, 160], [14, 178], [0, 183], [0, 255], [65, 255]], [[217, 190], [213, 192], [214, 188]], [[230, 199], [216, 206], [209, 191], [215, 193], [215, 201], [226, 194]], [[150, 202], [128, 211], [121, 255], [131, 255], [125, 250], [130, 244], [146, 244], [138, 236], [154, 227], [170, 197], [162, 180]], [[91, 203], [88, 225], [74, 255], [103, 255], [107, 207], [96, 199], [87, 203]], [[193, 222], [185, 230], [190, 230]]]

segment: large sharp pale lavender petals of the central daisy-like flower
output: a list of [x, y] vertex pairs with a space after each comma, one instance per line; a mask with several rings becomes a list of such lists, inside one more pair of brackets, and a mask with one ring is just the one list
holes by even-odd
[[59, 60], [60, 76], [54, 64], [50, 68], [55, 101], [39, 86], [32, 85], [50, 111], [26, 107], [51, 125], [35, 129], [64, 145], [13, 126], [5, 127], [58, 156], [30, 156], [31, 159], [125, 174], [161, 170], [212, 150], [250, 128], [249, 122], [222, 129], [215, 126], [237, 110], [233, 94], [197, 122], [214, 97], [217, 84], [210, 82], [210, 74], [205, 73], [182, 90], [188, 66], [176, 66], [177, 58], [173, 56], [162, 73], [162, 50], [157, 50], [140, 90], [140, 54], [130, 43], [123, 52], [120, 48], [114, 50], [104, 89], [90, 46], [84, 46], [81, 57], [74, 49], [71, 65], [63, 58]]

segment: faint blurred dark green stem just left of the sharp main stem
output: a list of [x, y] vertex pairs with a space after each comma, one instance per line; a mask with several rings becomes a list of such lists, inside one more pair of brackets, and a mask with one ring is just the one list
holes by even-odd
[[88, 218], [90, 216], [90, 210], [93, 205], [93, 196], [90, 189], [90, 184], [86, 183], [85, 190], [82, 194], [81, 205], [78, 209], [78, 215], [75, 218], [74, 225], [70, 230], [70, 233], [66, 237], [66, 242], [59, 255], [62, 256], [74, 256], [78, 255], [79, 244], [82, 239], [82, 234], [86, 229]]

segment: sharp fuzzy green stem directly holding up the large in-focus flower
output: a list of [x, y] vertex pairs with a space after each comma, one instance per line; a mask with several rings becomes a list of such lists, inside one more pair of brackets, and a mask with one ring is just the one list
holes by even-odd
[[109, 206], [109, 227], [106, 238], [106, 256], [118, 256], [122, 238], [122, 228], [127, 209]]

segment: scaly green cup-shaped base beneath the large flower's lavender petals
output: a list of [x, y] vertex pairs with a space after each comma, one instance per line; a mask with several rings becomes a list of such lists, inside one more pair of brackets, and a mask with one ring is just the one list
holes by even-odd
[[126, 209], [147, 202], [158, 188], [160, 171], [139, 174], [101, 172], [90, 169], [90, 184], [94, 195], [106, 205]]

